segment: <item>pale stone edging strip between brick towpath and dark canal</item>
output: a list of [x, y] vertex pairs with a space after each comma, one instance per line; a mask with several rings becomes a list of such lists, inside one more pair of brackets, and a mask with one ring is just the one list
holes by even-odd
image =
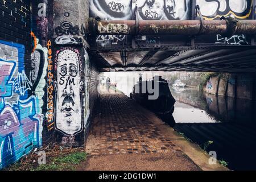
[[178, 134], [172, 127], [166, 125], [160, 118], [156, 117], [154, 113], [151, 113], [144, 107], [140, 107], [142, 112], [147, 113], [148, 119], [150, 119], [156, 127], [168, 134], [181, 151], [188, 156], [197, 166], [203, 171], [229, 171], [227, 167], [222, 166], [220, 163], [209, 164], [210, 156], [197, 144], [189, 142], [182, 135]]

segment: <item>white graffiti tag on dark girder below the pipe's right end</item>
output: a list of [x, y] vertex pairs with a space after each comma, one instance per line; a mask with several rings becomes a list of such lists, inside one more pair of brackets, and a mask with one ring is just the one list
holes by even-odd
[[231, 37], [223, 37], [222, 35], [217, 35], [216, 44], [229, 44], [229, 45], [247, 45], [245, 35], [233, 35]]

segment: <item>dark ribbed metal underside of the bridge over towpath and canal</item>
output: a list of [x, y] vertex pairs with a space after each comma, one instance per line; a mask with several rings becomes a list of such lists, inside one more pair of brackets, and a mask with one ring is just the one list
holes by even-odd
[[[109, 50], [110, 51], [110, 50]], [[256, 48], [123, 49], [94, 51], [92, 58], [101, 72], [197, 71], [255, 72]]]

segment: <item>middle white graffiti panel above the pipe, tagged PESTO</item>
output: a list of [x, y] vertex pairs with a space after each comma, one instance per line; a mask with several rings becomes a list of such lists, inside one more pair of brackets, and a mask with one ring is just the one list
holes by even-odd
[[143, 20], [189, 19], [189, 0], [138, 1], [139, 18]]

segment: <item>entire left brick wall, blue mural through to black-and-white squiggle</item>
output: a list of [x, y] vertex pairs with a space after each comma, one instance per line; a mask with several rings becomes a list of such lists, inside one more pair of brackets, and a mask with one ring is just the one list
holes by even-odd
[[49, 142], [46, 44], [53, 24], [51, 3], [0, 1], [0, 168]]

